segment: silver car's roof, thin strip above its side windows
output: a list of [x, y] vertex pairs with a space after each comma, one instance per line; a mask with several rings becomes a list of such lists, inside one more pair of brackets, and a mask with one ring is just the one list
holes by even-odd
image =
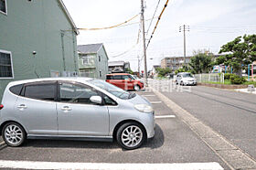
[[17, 84], [24, 84], [30, 82], [37, 82], [37, 81], [54, 81], [54, 80], [74, 80], [74, 81], [87, 81], [93, 80], [92, 78], [80, 78], [80, 77], [65, 77], [65, 78], [41, 78], [41, 79], [31, 79], [31, 80], [16, 80], [11, 81], [9, 86], [17, 85]]

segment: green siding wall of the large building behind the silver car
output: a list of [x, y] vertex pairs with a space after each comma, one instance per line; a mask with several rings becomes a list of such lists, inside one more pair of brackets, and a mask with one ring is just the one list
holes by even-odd
[[6, 3], [7, 15], [0, 13], [0, 50], [12, 53], [14, 79], [0, 79], [0, 101], [9, 81], [50, 77], [51, 70], [78, 70], [76, 35], [58, 0]]

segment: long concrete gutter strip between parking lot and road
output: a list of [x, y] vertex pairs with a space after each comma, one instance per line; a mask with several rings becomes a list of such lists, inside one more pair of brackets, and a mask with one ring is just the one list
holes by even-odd
[[150, 89], [153, 90], [155, 95], [176, 113], [177, 118], [185, 122], [230, 169], [256, 169], [256, 161], [250, 154], [242, 151], [238, 146], [231, 143], [221, 134], [215, 132], [205, 123], [200, 122], [195, 116], [181, 108], [174, 101], [171, 101], [160, 91], [154, 90], [153, 88]]

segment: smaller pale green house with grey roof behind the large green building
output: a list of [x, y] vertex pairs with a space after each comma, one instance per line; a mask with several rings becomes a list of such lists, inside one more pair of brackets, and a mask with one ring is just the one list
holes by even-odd
[[78, 52], [80, 76], [105, 80], [109, 58], [103, 44], [80, 45]]

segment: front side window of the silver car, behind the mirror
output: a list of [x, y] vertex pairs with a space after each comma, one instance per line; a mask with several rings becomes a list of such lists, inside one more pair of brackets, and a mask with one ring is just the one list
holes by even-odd
[[95, 104], [91, 96], [99, 96], [90, 86], [76, 83], [59, 82], [59, 101], [70, 103]]

